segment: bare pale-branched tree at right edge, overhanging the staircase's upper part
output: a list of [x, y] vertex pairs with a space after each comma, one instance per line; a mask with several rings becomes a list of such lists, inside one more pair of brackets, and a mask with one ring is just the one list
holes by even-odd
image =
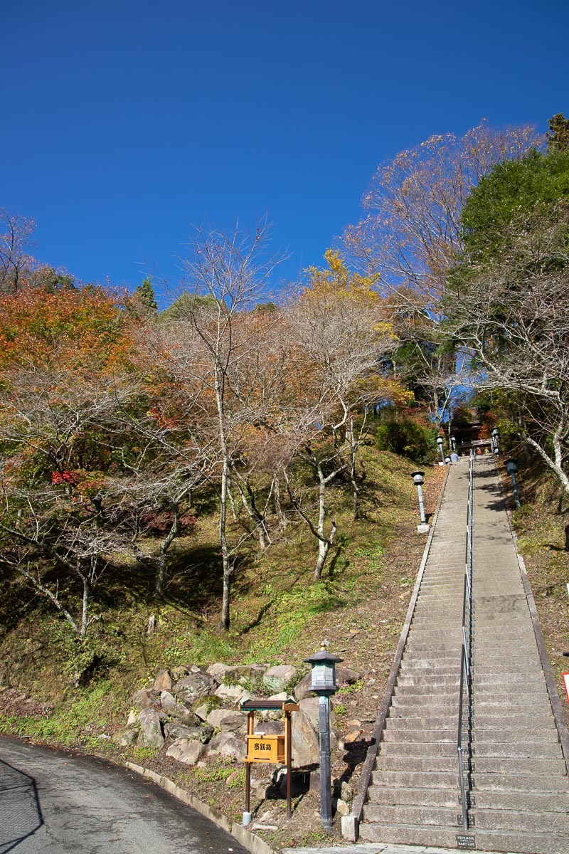
[[520, 438], [569, 495], [569, 210], [520, 214], [491, 260], [468, 254], [451, 331], [472, 354], [471, 382], [515, 395]]

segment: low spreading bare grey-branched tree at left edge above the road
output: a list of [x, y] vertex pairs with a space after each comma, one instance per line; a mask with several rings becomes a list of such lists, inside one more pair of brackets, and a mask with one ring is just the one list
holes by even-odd
[[[0, 560], [55, 605], [79, 637], [92, 622], [96, 581], [128, 540], [116, 483], [103, 471], [92, 473], [93, 457], [100, 460], [104, 449], [91, 436], [116, 432], [117, 407], [134, 394], [131, 381], [87, 374], [62, 365], [54, 352], [43, 364], [4, 371], [0, 397]], [[82, 587], [80, 617], [61, 601], [61, 585], [73, 578]]]

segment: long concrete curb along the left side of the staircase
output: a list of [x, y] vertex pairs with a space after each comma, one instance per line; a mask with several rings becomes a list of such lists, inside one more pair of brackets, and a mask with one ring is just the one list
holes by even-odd
[[413, 619], [417, 598], [419, 596], [419, 588], [421, 587], [423, 573], [425, 572], [425, 567], [427, 565], [427, 558], [429, 556], [429, 552], [431, 551], [431, 543], [433, 541], [435, 528], [437, 527], [438, 513], [443, 503], [444, 490], [446, 489], [446, 483], [449, 479], [449, 472], [450, 465], [447, 466], [446, 475], [444, 476], [443, 486], [438, 497], [437, 509], [435, 510], [433, 516], [433, 524], [431, 525], [431, 530], [427, 537], [427, 543], [425, 544], [421, 564], [419, 565], [419, 571], [417, 572], [415, 587], [413, 588], [413, 594], [411, 595], [411, 599], [409, 601], [409, 608], [407, 609], [407, 616], [405, 617], [404, 627], [401, 630], [401, 635], [399, 636], [398, 648], [395, 653], [395, 658], [393, 658], [392, 669], [389, 673], [389, 678], [387, 680], [386, 690], [383, 695], [383, 699], [381, 700], [380, 711], [375, 721], [374, 732], [371, 737], [371, 743], [369, 745], [368, 753], [363, 763], [362, 775], [360, 777], [359, 785], [357, 787], [357, 796], [352, 805], [351, 813], [348, 816], [342, 816], [342, 836], [348, 842], [357, 842], [357, 837], [359, 836], [359, 823], [362, 819], [363, 804], [365, 803], [365, 798], [368, 793], [369, 781], [371, 780], [371, 775], [374, 770], [375, 758], [377, 757], [377, 752], [380, 749], [380, 743], [383, 738], [383, 729], [386, 725], [387, 711], [389, 711], [389, 706], [392, 701], [392, 693], [395, 688], [395, 683], [397, 682], [401, 659], [403, 658], [405, 644], [407, 643], [407, 638], [409, 636], [409, 628]]

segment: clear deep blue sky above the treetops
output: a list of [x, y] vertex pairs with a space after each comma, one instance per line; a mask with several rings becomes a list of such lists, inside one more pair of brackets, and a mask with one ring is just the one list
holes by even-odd
[[0, 206], [83, 281], [177, 278], [192, 224], [269, 213], [322, 261], [381, 161], [569, 115], [569, 3], [3, 0]]

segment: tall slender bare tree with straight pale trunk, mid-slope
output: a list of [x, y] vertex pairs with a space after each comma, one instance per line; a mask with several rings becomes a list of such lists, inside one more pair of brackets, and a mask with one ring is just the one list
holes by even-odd
[[[268, 251], [268, 238], [266, 221], [253, 232], [238, 227], [230, 233], [195, 229], [191, 254], [183, 262], [186, 298], [178, 303], [165, 354], [169, 370], [181, 383], [192, 389], [199, 386], [196, 401], [206, 429], [215, 436], [212, 483], [219, 500], [224, 629], [229, 628], [235, 553], [243, 541], [240, 537], [233, 545], [229, 542], [229, 488], [243, 437], [264, 417], [264, 400], [258, 394], [261, 371], [255, 364], [260, 365], [259, 354], [270, 340], [272, 325], [268, 319], [262, 325], [251, 324], [249, 314], [266, 294], [271, 274], [282, 260], [282, 255]], [[247, 488], [243, 494], [247, 496]]]

